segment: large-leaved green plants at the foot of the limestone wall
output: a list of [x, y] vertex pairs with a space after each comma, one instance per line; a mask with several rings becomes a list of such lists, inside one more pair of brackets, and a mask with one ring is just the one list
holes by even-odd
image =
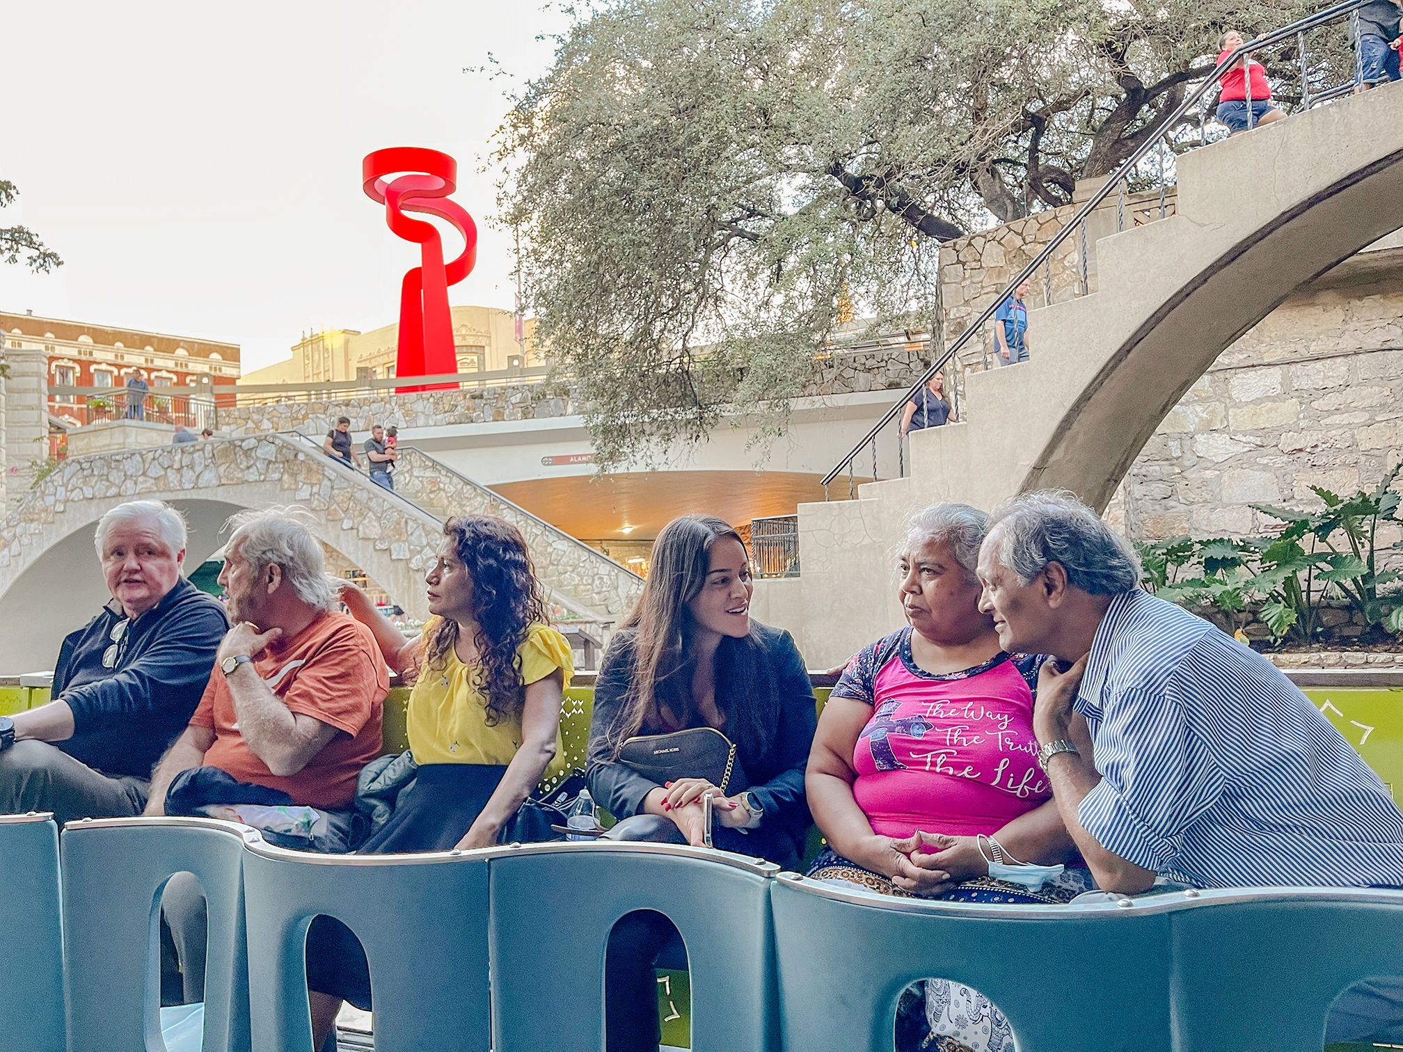
[[1271, 537], [1141, 544], [1146, 585], [1172, 602], [1205, 607], [1226, 630], [1240, 628], [1256, 610], [1278, 642], [1313, 642], [1320, 610], [1340, 600], [1368, 628], [1403, 634], [1403, 574], [1379, 569], [1376, 546], [1379, 523], [1400, 522], [1393, 490], [1400, 471], [1403, 464], [1350, 497], [1312, 487], [1324, 504], [1319, 512], [1253, 505], [1284, 523]]

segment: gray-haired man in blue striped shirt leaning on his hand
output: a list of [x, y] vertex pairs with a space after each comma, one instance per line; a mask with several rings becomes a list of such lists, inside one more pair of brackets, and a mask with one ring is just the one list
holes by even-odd
[[1403, 886], [1403, 815], [1271, 662], [1139, 589], [1129, 544], [1069, 494], [1026, 494], [979, 553], [981, 609], [1051, 654], [1033, 729], [1106, 891]]

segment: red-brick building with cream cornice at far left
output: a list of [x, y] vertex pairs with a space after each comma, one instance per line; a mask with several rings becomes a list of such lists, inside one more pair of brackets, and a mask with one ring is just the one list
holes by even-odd
[[[164, 387], [208, 391], [209, 383], [239, 376], [239, 344], [216, 339], [6, 311], [0, 311], [0, 337], [6, 351], [43, 351], [49, 389], [60, 389], [49, 394], [49, 412], [67, 426], [107, 419], [111, 407], [121, 403], [119, 390], [130, 369], [153, 391]], [[66, 387], [100, 391], [62, 393]], [[101, 394], [104, 389], [112, 389], [112, 398]]]

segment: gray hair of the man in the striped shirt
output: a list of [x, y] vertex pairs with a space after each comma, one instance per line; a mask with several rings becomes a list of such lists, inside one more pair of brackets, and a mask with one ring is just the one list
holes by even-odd
[[1090, 595], [1120, 595], [1139, 585], [1141, 565], [1129, 541], [1065, 490], [1021, 494], [993, 516], [998, 561], [1027, 585], [1048, 562]]

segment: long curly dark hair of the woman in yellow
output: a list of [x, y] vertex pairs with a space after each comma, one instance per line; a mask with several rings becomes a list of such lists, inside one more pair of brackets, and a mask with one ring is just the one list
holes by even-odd
[[[455, 515], [443, 536], [473, 581], [473, 620], [478, 666], [474, 683], [487, 699], [487, 724], [519, 715], [526, 701], [516, 648], [533, 623], [546, 623], [546, 599], [526, 541], [511, 523], [490, 515]], [[457, 642], [457, 621], [443, 617], [428, 640], [429, 668], [446, 668]]]

